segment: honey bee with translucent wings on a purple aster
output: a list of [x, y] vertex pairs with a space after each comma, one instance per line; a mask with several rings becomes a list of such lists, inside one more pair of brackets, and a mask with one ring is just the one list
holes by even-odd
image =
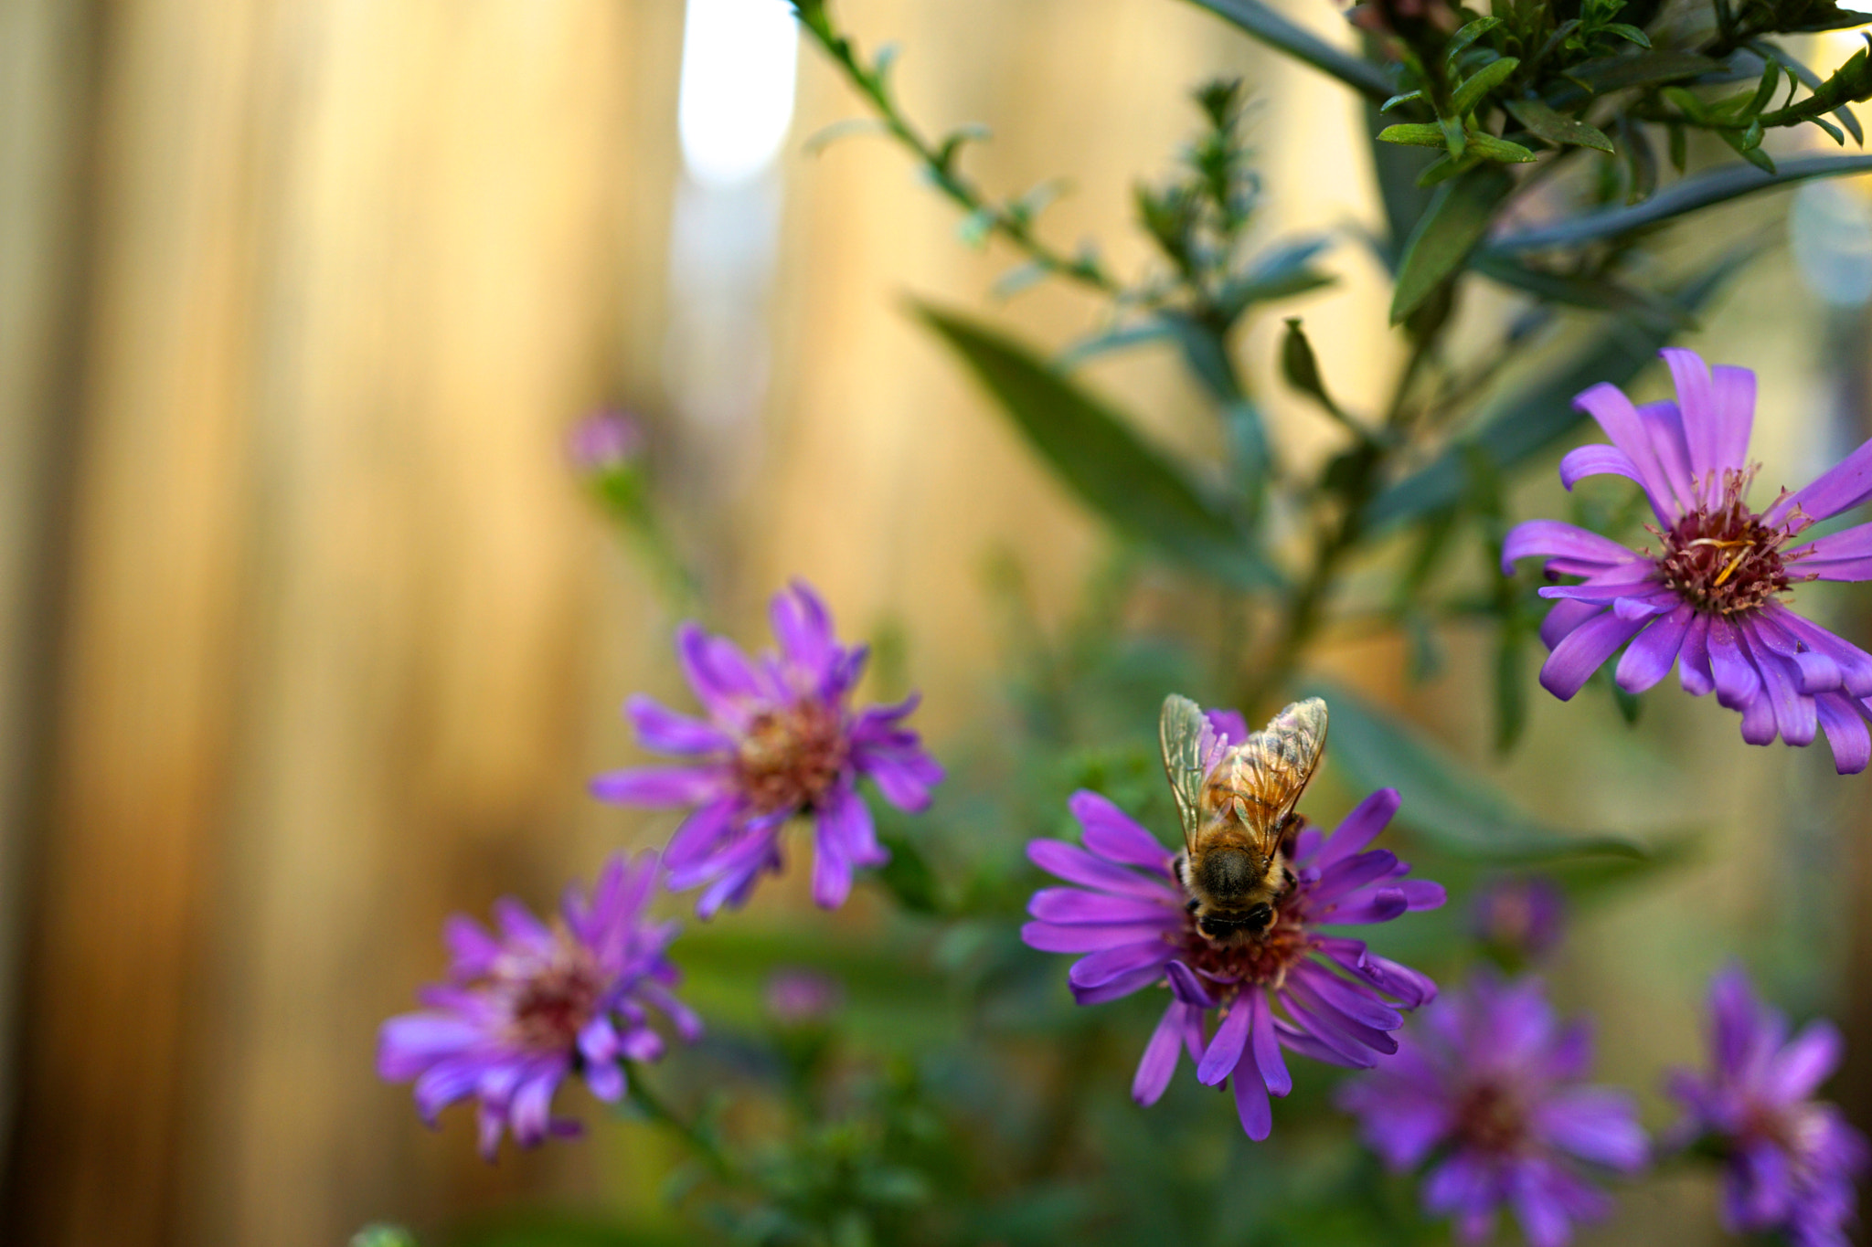
[[1196, 929], [1222, 948], [1260, 939], [1294, 886], [1294, 813], [1325, 752], [1325, 703], [1295, 701], [1247, 740], [1217, 740], [1189, 697], [1164, 697], [1157, 735], [1183, 821], [1177, 882]]

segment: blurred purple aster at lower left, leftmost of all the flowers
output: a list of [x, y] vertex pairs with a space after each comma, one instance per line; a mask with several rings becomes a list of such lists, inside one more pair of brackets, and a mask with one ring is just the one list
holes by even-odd
[[676, 924], [644, 918], [655, 881], [655, 853], [635, 862], [618, 854], [590, 897], [567, 888], [550, 925], [513, 899], [494, 905], [498, 935], [451, 918], [449, 982], [423, 989], [427, 1011], [384, 1023], [378, 1075], [416, 1079], [416, 1109], [431, 1125], [444, 1107], [479, 1097], [481, 1155], [490, 1161], [507, 1127], [522, 1146], [577, 1133], [577, 1122], [552, 1118], [552, 1094], [578, 1073], [599, 1099], [623, 1096], [620, 1062], [663, 1054], [651, 1008], [683, 1039], [702, 1034], [702, 1021], [670, 995], [678, 972], [663, 950]]

